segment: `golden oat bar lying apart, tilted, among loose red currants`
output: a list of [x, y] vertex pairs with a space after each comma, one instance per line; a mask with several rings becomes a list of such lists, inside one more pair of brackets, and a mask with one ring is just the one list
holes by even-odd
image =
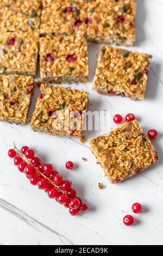
[[151, 141], [136, 120], [92, 138], [90, 145], [111, 183], [127, 180], [158, 160]]

